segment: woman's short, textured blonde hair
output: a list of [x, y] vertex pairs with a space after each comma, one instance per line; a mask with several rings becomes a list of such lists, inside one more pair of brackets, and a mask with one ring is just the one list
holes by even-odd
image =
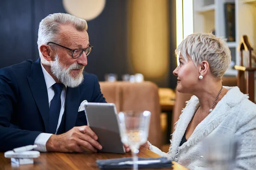
[[209, 33], [195, 33], [187, 36], [175, 50], [188, 61], [192, 59], [195, 66], [202, 61], [209, 63], [212, 75], [220, 80], [231, 62], [230, 49], [225, 40]]

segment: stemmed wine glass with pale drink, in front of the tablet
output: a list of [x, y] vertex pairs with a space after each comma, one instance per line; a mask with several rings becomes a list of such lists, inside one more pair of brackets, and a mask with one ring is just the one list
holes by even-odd
[[118, 113], [120, 121], [121, 140], [132, 151], [133, 169], [138, 169], [138, 156], [140, 145], [147, 142], [150, 122], [149, 111], [123, 111]]

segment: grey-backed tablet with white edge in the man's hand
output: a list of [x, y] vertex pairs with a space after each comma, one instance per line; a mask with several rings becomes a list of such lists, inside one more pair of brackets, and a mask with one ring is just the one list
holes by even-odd
[[84, 108], [87, 125], [96, 133], [102, 145], [99, 152], [125, 153], [115, 104], [85, 103]]

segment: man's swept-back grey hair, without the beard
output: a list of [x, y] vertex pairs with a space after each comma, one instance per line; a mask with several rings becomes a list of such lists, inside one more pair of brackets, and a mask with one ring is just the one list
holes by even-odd
[[49, 14], [41, 20], [38, 29], [38, 50], [40, 46], [47, 42], [59, 43], [59, 31], [61, 25], [70, 25], [76, 28], [77, 31], [87, 31], [87, 22], [79, 17], [70, 14], [56, 13]]

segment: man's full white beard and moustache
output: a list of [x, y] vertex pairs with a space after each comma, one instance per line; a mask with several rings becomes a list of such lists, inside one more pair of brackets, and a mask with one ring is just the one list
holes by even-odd
[[84, 66], [74, 63], [74, 64], [70, 65], [68, 68], [64, 68], [63, 65], [61, 65], [61, 63], [59, 62], [58, 55], [55, 56], [55, 61], [53, 61], [52, 65], [51, 65], [52, 74], [61, 83], [63, 83], [64, 85], [67, 85], [68, 87], [76, 88], [77, 86], [79, 86], [81, 84], [81, 82], [83, 82], [84, 75], [81, 71], [81, 73], [79, 73], [79, 75], [76, 78], [73, 78], [70, 74], [70, 72], [73, 69], [82, 69], [82, 71], [83, 71]]

